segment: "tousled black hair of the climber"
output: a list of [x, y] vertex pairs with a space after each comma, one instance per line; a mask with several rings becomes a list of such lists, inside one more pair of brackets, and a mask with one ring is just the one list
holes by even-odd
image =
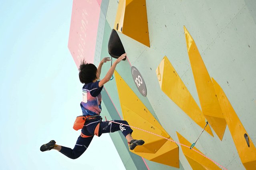
[[97, 67], [94, 64], [86, 63], [85, 60], [81, 61], [79, 66], [79, 79], [81, 83], [91, 83], [97, 79]]

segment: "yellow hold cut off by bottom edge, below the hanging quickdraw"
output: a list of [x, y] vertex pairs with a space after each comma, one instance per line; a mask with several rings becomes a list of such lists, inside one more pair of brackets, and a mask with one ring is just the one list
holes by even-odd
[[[181, 134], [179, 134], [178, 132], [176, 132], [176, 133], [177, 133], [180, 143], [185, 144], [187, 146], [191, 146], [191, 143], [189, 141], [187, 141], [187, 139], [185, 139], [183, 136], [181, 136]], [[187, 161], [189, 162], [192, 169], [201, 170], [204, 167], [203, 169], [206, 169], [206, 170], [208, 170], [208, 169], [209, 170], [221, 170], [221, 168], [219, 168], [216, 164], [214, 164], [214, 162], [210, 161], [209, 159], [200, 155], [199, 153], [195, 152], [194, 150], [191, 150], [182, 145], [181, 145], [181, 149], [182, 149], [185, 157], [190, 158], [190, 159], [187, 159]], [[193, 147], [193, 149], [200, 152], [200, 150], [198, 150], [196, 147]], [[200, 152], [200, 153], [202, 153], [202, 152]]]

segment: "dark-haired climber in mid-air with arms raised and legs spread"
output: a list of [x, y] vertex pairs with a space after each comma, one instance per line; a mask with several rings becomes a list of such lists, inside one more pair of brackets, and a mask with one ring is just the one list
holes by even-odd
[[[113, 63], [106, 76], [101, 81], [97, 81], [101, 75], [101, 67], [103, 63], [110, 61], [109, 57], [105, 57], [100, 62], [98, 68], [91, 63], [85, 63], [85, 61], [81, 62], [79, 67], [79, 79], [81, 83], [85, 84], [83, 85], [83, 101], [80, 104], [83, 116], [76, 119], [73, 127], [76, 130], [79, 129], [77, 128], [77, 125], [79, 125], [79, 123], [82, 121], [81, 135], [78, 137], [73, 149], [57, 145], [54, 140], [51, 140], [50, 142], [43, 144], [40, 147], [42, 152], [54, 149], [58, 150], [71, 159], [76, 159], [85, 152], [94, 135], [101, 136], [103, 133], [116, 132], [118, 130], [121, 130], [127, 139], [130, 150], [133, 150], [137, 145], [144, 144], [143, 140], [133, 139], [131, 136], [133, 130], [130, 127], [112, 123], [111, 121], [101, 121], [101, 90], [103, 89], [103, 85], [111, 79], [117, 64], [125, 59], [125, 57], [126, 53], [121, 55]], [[127, 121], [115, 120], [115, 122], [129, 125]]]

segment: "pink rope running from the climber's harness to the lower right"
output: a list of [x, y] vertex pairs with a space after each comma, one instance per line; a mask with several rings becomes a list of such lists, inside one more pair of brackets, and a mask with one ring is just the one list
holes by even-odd
[[[107, 118], [106, 118], [106, 117], [105, 117], [105, 119], [106, 119], [106, 121], [107, 121]], [[123, 123], [118, 123], [118, 122], [114, 122], [114, 121], [109, 121], [109, 122], [117, 123], [117, 124], [120, 124], [120, 125], [125, 125], [125, 124], [123, 124]], [[164, 139], [170, 140], [171, 142], [174, 142], [174, 143], [176, 143], [176, 144], [179, 144], [179, 145], [185, 146], [185, 147], [187, 147], [187, 148], [189, 148], [189, 149], [190, 149], [190, 146], [187, 146], [187, 145], [185, 145], [185, 144], [182, 144], [182, 143], [176, 142], [176, 141], [174, 141], [174, 140], [171, 140], [171, 139], [165, 138], [165, 137], [163, 137], [163, 136], [160, 136], [159, 134], [155, 134], [155, 133], [149, 132], [149, 131], [147, 131], [147, 130], [144, 130], [144, 129], [141, 129], [141, 128], [137, 128], [137, 127], [133, 127], [133, 126], [129, 126], [129, 125], [125, 125], [125, 126], [127, 126], [127, 127], [132, 127], [132, 128], [136, 128], [136, 129], [142, 130], [142, 131], [144, 131], [144, 132], [154, 134], [155, 136], [159, 136], [159, 137], [161, 137], [161, 138], [164, 138]], [[198, 154], [200, 154], [200, 155], [204, 156], [205, 158], [209, 159], [210, 161], [214, 162], [214, 164], [216, 164], [216, 165], [218, 165], [218, 166], [222, 167], [224, 170], [228, 170], [227, 168], [225, 168], [224, 166], [220, 165], [218, 162], [215, 162], [214, 160], [212, 160], [212, 159], [211, 159], [211, 158], [209, 158], [208, 156], [206, 156], [206, 155], [202, 154], [201, 152], [198, 152], [197, 150], [195, 150], [195, 149], [193, 149], [193, 148], [191, 148], [191, 150], [194, 150], [194, 151], [195, 151], [195, 152], [197, 152]]]

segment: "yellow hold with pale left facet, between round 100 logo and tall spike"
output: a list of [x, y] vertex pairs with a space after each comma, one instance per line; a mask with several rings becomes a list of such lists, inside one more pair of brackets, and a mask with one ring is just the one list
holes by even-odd
[[[166, 56], [158, 65], [156, 74], [161, 90], [194, 122], [204, 128], [206, 118]], [[213, 136], [210, 126], [205, 130]]]

